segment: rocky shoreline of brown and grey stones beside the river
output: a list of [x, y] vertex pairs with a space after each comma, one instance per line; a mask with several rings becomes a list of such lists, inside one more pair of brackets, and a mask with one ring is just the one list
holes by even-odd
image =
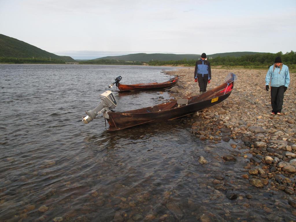
[[[274, 191], [283, 190], [292, 197], [289, 204], [296, 207], [296, 81], [290, 73], [291, 83], [284, 94], [282, 115], [271, 115], [270, 91], [265, 91], [267, 70], [212, 69], [212, 80], [207, 89], [220, 85], [226, 75], [238, 77], [228, 99], [193, 115], [192, 133], [200, 140], [218, 143], [229, 141], [237, 150], [234, 155], [223, 156], [224, 161], [246, 158], [242, 175], [246, 183], [255, 187], [266, 187]], [[194, 82], [194, 67], [168, 71], [169, 75], [181, 78], [169, 89], [176, 99], [189, 93], [198, 94], [198, 83]], [[251, 154], [251, 155], [250, 155]], [[201, 162], [205, 162], [201, 158]], [[296, 215], [296, 210], [293, 213]]]

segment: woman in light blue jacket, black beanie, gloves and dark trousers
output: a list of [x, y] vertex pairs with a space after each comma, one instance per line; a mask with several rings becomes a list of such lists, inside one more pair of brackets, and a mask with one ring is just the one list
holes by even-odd
[[288, 89], [290, 84], [290, 73], [288, 66], [281, 62], [281, 57], [276, 57], [274, 65], [270, 66], [265, 77], [266, 91], [271, 93], [271, 115], [281, 115], [281, 109], [284, 102], [284, 92]]

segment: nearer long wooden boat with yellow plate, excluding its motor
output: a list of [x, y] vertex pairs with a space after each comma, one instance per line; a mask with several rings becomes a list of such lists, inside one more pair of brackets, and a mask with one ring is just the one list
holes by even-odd
[[230, 96], [236, 75], [229, 73], [226, 81], [204, 94], [125, 112], [108, 112], [108, 131], [121, 130], [144, 123], [176, 119], [212, 107]]

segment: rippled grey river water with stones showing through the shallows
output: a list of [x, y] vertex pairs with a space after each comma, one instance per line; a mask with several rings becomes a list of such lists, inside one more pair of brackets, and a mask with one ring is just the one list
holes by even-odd
[[[107, 132], [84, 111], [121, 83], [163, 82], [173, 67], [0, 65], [0, 221], [281, 221], [281, 194], [242, 178], [229, 143], [200, 141], [192, 116]], [[116, 111], [166, 102], [167, 92], [118, 94]], [[235, 144], [235, 141], [232, 141]], [[208, 164], [201, 165], [204, 156]], [[217, 181], [226, 190], [215, 189]], [[238, 198], [230, 200], [226, 191]], [[248, 194], [248, 197], [246, 197]], [[269, 212], [267, 209], [271, 209]]]

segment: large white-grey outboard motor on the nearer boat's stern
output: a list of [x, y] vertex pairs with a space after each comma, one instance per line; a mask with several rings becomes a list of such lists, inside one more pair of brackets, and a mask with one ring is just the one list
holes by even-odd
[[96, 118], [96, 115], [100, 114], [103, 112], [104, 118], [109, 119], [108, 112], [110, 109], [113, 109], [116, 107], [117, 102], [112, 94], [111, 91], [106, 91], [103, 94], [100, 95], [100, 98], [102, 102], [93, 110], [88, 110], [85, 111], [87, 116], [83, 118], [82, 122], [83, 123], [89, 123], [91, 120]]

